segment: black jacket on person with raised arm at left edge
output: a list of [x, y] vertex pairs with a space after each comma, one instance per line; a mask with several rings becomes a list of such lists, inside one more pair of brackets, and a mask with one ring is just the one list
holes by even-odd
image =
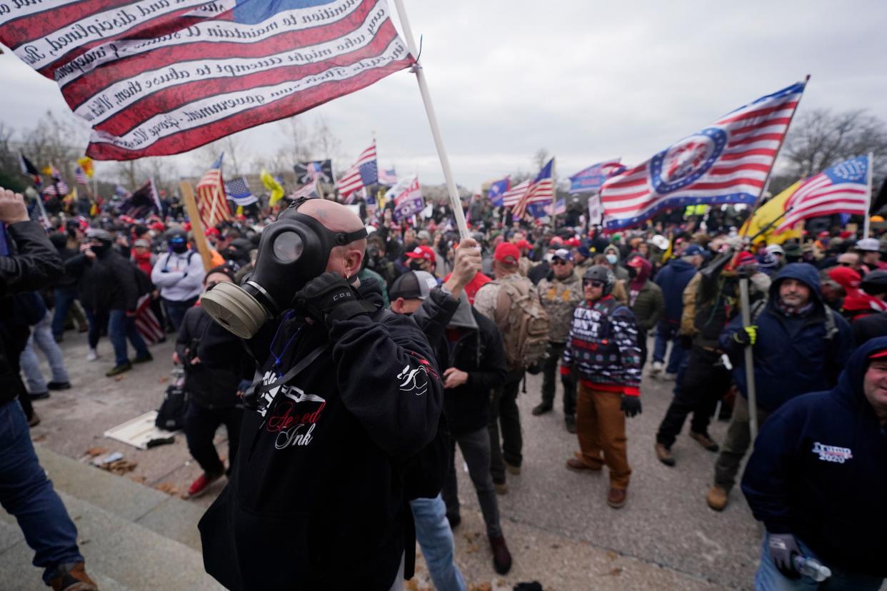
[[37, 222], [13, 223], [5, 231], [9, 253], [0, 256], [0, 404], [25, 393], [19, 355], [30, 330], [27, 323], [15, 322], [16, 294], [39, 290], [63, 271], [58, 251]]

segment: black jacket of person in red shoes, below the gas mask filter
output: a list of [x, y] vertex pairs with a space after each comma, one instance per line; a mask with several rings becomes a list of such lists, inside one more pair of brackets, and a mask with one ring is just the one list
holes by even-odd
[[[253, 376], [254, 364], [240, 339], [213, 322], [202, 307], [195, 306], [184, 313], [176, 352], [184, 366], [184, 389], [196, 404], [203, 408], [231, 408], [240, 403], [240, 380]], [[200, 362], [192, 364], [195, 356]]]

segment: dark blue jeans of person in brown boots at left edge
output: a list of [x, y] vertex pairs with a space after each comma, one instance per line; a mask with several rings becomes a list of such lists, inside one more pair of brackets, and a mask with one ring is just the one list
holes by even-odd
[[79, 563], [77, 528], [37, 462], [19, 402], [0, 405], [0, 504], [19, 522], [43, 581], [59, 564]]

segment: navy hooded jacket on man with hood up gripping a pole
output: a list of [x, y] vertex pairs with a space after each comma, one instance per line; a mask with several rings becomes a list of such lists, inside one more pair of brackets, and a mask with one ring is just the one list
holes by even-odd
[[[789, 317], [776, 307], [782, 279], [797, 279], [810, 287], [814, 307], [809, 315]], [[826, 310], [820, 296], [820, 276], [812, 265], [790, 263], [782, 268], [770, 286], [770, 299], [757, 316], [757, 342], [754, 351], [757, 406], [768, 411], [799, 394], [828, 390], [853, 351], [850, 324], [833, 314], [836, 334], [826, 338]], [[733, 338], [742, 328], [742, 315], [727, 324], [720, 336], [720, 347], [733, 362], [733, 377], [743, 396], [746, 394], [744, 347]]]

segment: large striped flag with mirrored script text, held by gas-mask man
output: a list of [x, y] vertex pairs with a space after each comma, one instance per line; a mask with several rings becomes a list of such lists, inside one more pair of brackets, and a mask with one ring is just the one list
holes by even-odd
[[411, 66], [385, 0], [10, 2], [0, 43], [56, 81], [95, 159], [176, 154]]

